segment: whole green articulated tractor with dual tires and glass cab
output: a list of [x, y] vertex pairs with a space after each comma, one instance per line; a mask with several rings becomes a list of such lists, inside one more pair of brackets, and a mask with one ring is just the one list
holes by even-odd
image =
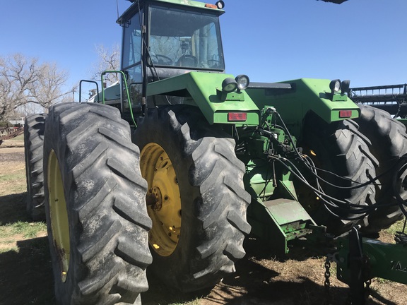
[[321, 228], [401, 218], [389, 177], [404, 196], [405, 128], [363, 116], [348, 81], [251, 84], [225, 74], [223, 1], [132, 2], [119, 97], [26, 122], [28, 212], [45, 206], [59, 304], [139, 304], [147, 267], [184, 292], [213, 287], [247, 234], [287, 252]]

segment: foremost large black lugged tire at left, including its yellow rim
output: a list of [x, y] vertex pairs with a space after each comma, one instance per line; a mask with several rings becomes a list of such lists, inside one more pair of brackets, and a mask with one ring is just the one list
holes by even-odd
[[45, 211], [59, 304], [141, 304], [146, 181], [119, 110], [57, 104], [45, 126]]

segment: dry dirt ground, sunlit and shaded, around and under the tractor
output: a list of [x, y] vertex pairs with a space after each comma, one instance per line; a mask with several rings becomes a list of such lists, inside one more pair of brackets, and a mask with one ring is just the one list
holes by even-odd
[[[18, 142], [18, 141], [16, 141]], [[19, 143], [0, 146], [0, 177], [24, 168], [24, 149]], [[21, 181], [20, 181], [21, 180]], [[13, 193], [0, 179], [0, 222], [28, 221], [25, 215], [25, 180], [13, 181], [20, 189]], [[16, 184], [18, 184], [16, 186]], [[17, 237], [18, 250], [0, 253], [0, 305], [54, 304], [52, 270], [45, 234], [34, 239]], [[391, 241], [387, 233], [381, 239]], [[7, 242], [10, 242], [9, 240]], [[0, 236], [0, 246], [6, 243]], [[149, 275], [150, 289], [142, 295], [143, 304], [239, 304], [294, 305], [346, 304], [348, 287], [336, 280], [331, 266], [329, 294], [324, 288], [324, 257], [305, 249], [293, 249], [288, 256], [277, 257], [264, 245], [248, 239], [247, 256], [236, 264], [237, 272], [204, 294], [184, 295], [167, 288]], [[407, 304], [407, 286], [387, 280], [372, 280], [367, 304]], [[190, 302], [190, 303], [189, 303]]]

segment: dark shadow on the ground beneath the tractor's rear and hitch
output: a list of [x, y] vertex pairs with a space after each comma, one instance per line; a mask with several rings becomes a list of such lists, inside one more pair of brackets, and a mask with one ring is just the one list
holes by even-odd
[[[256, 260], [266, 258], [270, 252], [263, 247], [247, 244], [247, 257], [237, 261], [237, 272], [226, 277], [211, 292], [202, 294], [179, 294], [160, 282], [159, 277], [148, 273], [150, 289], [142, 295], [143, 305], [168, 305], [182, 304], [187, 301], [200, 299], [197, 304], [231, 304], [231, 305], [323, 305], [329, 300], [330, 305], [348, 304], [348, 287], [330, 287], [329, 292], [324, 287], [324, 273], [322, 270], [321, 281], [310, 279], [306, 273], [293, 270], [293, 276], [279, 280], [277, 270], [268, 268]], [[307, 251], [293, 251], [283, 258], [272, 258], [280, 264], [288, 259], [302, 263], [310, 257]], [[254, 258], [255, 261], [252, 261]], [[319, 266], [322, 268], [322, 266]], [[290, 267], [287, 267], [290, 268]], [[307, 268], [305, 268], [307, 270]], [[335, 277], [335, 275], [332, 275]], [[388, 301], [374, 290], [370, 291], [373, 299], [366, 301], [366, 305], [401, 305]]]

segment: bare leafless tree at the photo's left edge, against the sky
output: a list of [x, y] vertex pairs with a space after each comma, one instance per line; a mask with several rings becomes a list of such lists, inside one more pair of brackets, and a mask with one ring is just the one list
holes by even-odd
[[45, 109], [61, 102], [61, 92], [68, 74], [56, 64], [39, 64], [38, 59], [22, 54], [0, 56], [0, 121], [15, 114], [27, 104], [38, 104]]

